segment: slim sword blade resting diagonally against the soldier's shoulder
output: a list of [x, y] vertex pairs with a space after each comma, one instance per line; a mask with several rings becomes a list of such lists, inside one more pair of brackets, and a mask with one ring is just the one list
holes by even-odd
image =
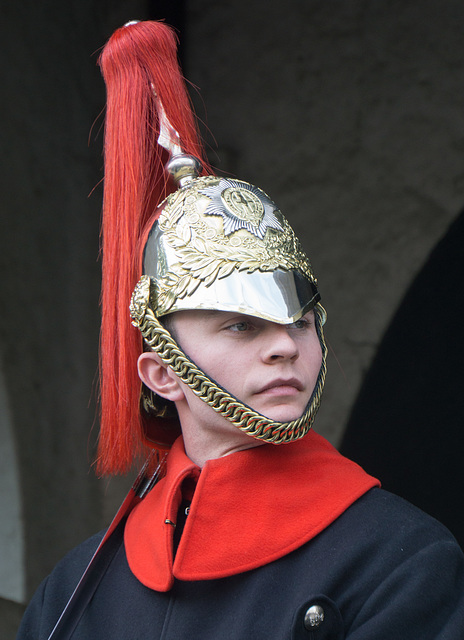
[[164, 476], [166, 457], [167, 454], [160, 458], [158, 451], [153, 451], [148, 457], [82, 574], [53, 631], [48, 636], [48, 640], [69, 640], [71, 638], [111, 561], [123, 543], [124, 527], [130, 512]]

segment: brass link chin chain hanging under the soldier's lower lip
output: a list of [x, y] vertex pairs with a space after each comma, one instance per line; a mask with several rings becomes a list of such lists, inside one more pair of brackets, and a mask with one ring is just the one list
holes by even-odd
[[[146, 343], [161, 360], [192, 389], [201, 400], [206, 402], [218, 414], [227, 418], [233, 425], [253, 438], [281, 444], [292, 442], [305, 436], [319, 408], [326, 375], [327, 347], [322, 333], [325, 312], [320, 305], [315, 307], [316, 328], [322, 347], [322, 365], [316, 386], [304, 414], [291, 422], [275, 422], [253, 411], [250, 407], [231, 396], [199, 369], [180, 349], [171, 334], [158, 321], [148, 306], [147, 289], [149, 282], [142, 276], [134, 292], [131, 303], [133, 324], [137, 326]], [[149, 278], [148, 278], [149, 280]]]

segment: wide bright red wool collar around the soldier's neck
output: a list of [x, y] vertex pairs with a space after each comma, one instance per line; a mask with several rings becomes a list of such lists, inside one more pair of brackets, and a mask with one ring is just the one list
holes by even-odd
[[[181, 484], [198, 479], [172, 561]], [[243, 573], [281, 558], [323, 531], [379, 482], [314, 431], [291, 444], [209, 460], [202, 470], [174, 443], [166, 477], [134, 509], [124, 542], [132, 573], [168, 591], [179, 580]]]

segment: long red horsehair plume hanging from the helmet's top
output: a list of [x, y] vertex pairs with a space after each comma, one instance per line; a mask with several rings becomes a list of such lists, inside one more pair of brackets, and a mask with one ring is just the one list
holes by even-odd
[[[118, 29], [99, 58], [106, 83], [105, 182], [102, 217], [101, 426], [97, 469], [124, 473], [140, 453], [139, 332], [129, 302], [141, 275], [139, 239], [158, 204], [175, 187], [164, 171], [156, 105], [179, 133], [184, 153], [206, 165], [185, 82], [177, 39], [160, 22]], [[155, 214], [156, 217], [156, 214]]]

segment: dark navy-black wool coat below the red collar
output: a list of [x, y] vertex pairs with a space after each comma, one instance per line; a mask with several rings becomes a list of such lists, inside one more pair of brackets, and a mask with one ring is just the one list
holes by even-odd
[[[18, 640], [48, 638], [99, 539], [43, 582]], [[314, 605], [324, 619], [307, 628]], [[166, 593], [138, 582], [121, 545], [73, 640], [183, 638], [462, 640], [464, 557], [441, 524], [381, 489], [275, 562], [218, 580], [176, 580]]]

